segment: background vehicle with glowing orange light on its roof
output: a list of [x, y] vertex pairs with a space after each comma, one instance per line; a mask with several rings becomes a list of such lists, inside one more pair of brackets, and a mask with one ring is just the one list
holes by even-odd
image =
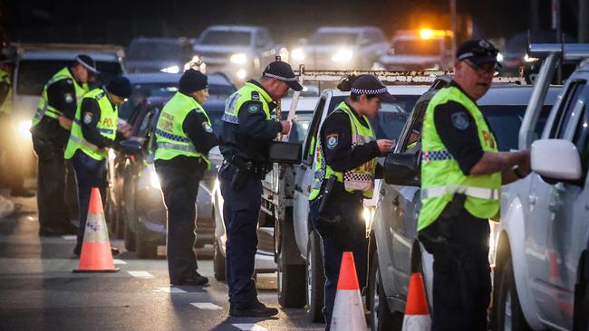
[[446, 30], [400, 30], [391, 39], [391, 49], [379, 59], [385, 70], [449, 70], [454, 61], [453, 33]]

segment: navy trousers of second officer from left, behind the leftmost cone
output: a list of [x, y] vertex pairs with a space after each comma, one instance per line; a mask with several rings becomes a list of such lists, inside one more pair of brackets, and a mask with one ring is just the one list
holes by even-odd
[[80, 227], [78, 228], [77, 243], [82, 244], [92, 187], [100, 189], [102, 205], [104, 205], [104, 198], [106, 197], [106, 161], [95, 160], [81, 150], [77, 150], [72, 157], [72, 166], [78, 184], [78, 203], [80, 206]]

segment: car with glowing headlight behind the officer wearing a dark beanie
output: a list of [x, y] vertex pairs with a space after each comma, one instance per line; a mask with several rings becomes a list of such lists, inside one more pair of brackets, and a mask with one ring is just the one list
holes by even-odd
[[[136, 251], [140, 258], [153, 258], [159, 245], [166, 242], [166, 207], [159, 188], [159, 178], [153, 165], [154, 130], [159, 112], [175, 93], [180, 75], [168, 73], [131, 74], [133, 90], [163, 91], [140, 102], [130, 112], [131, 137], [121, 142], [121, 152], [109, 155], [105, 213], [116, 235], [125, 239], [125, 248]], [[225, 99], [237, 89], [224, 75], [208, 75], [209, 99], [203, 104], [213, 129], [220, 132], [220, 118]], [[157, 93], [155, 93], [157, 94]], [[211, 168], [201, 180], [197, 197], [197, 246], [212, 243], [211, 190], [217, 169]]]

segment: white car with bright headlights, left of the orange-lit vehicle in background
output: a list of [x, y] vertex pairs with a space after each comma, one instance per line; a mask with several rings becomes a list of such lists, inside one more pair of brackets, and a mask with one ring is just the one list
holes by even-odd
[[375, 26], [323, 26], [301, 42], [289, 61], [309, 70], [369, 70], [390, 47]]

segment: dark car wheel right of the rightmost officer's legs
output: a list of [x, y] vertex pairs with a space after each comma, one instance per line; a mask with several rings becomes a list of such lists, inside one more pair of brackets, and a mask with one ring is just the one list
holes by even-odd
[[519, 306], [511, 256], [507, 256], [496, 280], [498, 280], [495, 285], [497, 301], [494, 305], [495, 325], [493, 329], [496, 331], [531, 330]]

